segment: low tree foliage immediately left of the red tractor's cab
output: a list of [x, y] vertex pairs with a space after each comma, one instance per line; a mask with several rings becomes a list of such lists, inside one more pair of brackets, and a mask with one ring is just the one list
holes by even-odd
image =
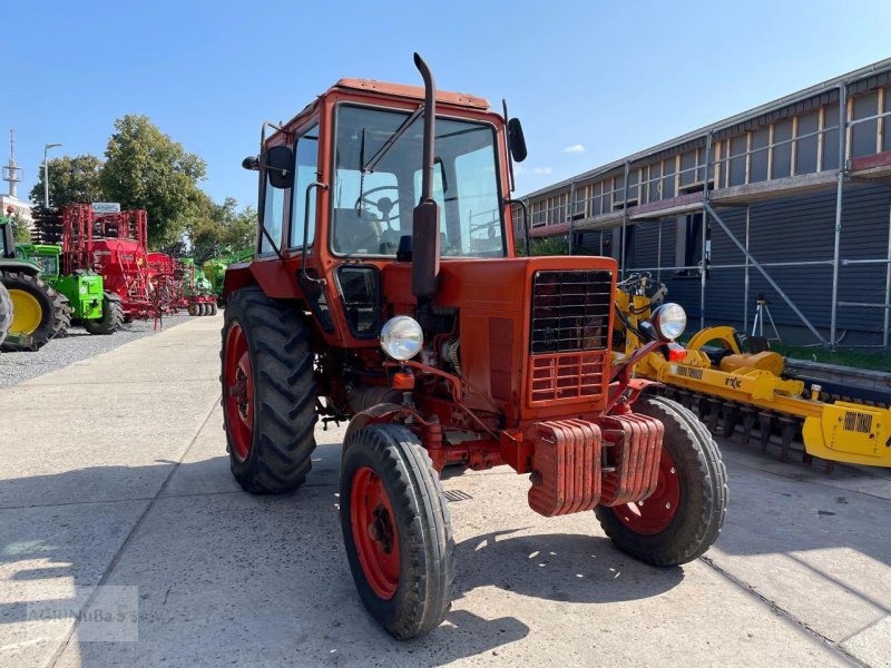
[[236, 209], [238, 203], [227, 197], [215, 204], [205, 196], [198, 214], [186, 225], [196, 263], [251, 248], [257, 226], [257, 212], [252, 206]]

